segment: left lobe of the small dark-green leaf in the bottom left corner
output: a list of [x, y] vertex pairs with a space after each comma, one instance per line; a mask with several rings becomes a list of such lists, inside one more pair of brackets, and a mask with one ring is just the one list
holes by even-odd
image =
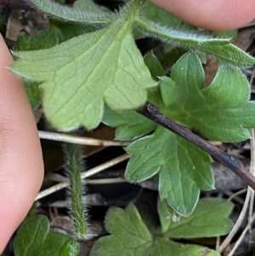
[[14, 242], [15, 256], [43, 255], [43, 242], [48, 233], [48, 219], [37, 216], [24, 222]]

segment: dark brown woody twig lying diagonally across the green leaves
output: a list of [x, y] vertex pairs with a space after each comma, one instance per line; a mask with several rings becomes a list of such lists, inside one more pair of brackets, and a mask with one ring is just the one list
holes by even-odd
[[255, 190], [255, 177], [246, 171], [241, 161], [236, 156], [231, 156], [228, 153], [219, 150], [216, 146], [208, 143], [207, 140], [201, 139], [201, 137], [193, 134], [188, 129], [168, 119], [161, 113], [156, 105], [146, 103], [138, 110], [138, 112], [144, 117], [147, 117], [164, 128], [172, 131], [174, 134], [178, 134], [184, 139], [189, 140], [191, 143], [200, 147], [203, 151], [206, 151], [212, 156], [213, 160], [224, 164], [227, 168], [237, 174], [244, 182], [246, 182], [247, 185], [251, 186], [252, 189]]

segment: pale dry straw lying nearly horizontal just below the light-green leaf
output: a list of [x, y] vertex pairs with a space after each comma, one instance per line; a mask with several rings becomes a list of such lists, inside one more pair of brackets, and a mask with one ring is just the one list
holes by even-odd
[[79, 144], [79, 145], [101, 145], [101, 146], [127, 146], [130, 145], [130, 142], [124, 142], [124, 141], [111, 141], [111, 140], [105, 140], [105, 139], [92, 139], [92, 138], [86, 138], [86, 137], [80, 137], [76, 135], [70, 135], [70, 134], [57, 134], [57, 133], [50, 133], [50, 132], [43, 132], [38, 131], [40, 139], [50, 139], [55, 141], [61, 141], [61, 142], [68, 142], [73, 144]]

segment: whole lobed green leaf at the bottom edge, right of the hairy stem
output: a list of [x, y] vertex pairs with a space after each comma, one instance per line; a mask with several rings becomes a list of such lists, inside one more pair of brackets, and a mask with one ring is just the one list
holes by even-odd
[[[184, 245], [173, 239], [219, 236], [229, 232], [231, 221], [226, 219], [232, 205], [220, 199], [203, 199], [188, 218], [180, 217], [164, 201], [158, 201], [161, 227], [145, 225], [133, 204], [126, 210], [111, 208], [106, 214], [105, 227], [111, 236], [99, 239], [92, 256], [135, 255], [208, 255], [218, 253], [206, 247]], [[153, 226], [153, 228], [151, 228]]]

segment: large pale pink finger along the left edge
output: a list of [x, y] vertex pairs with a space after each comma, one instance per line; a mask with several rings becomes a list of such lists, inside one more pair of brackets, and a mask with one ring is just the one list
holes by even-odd
[[37, 126], [20, 79], [0, 35], [0, 253], [31, 208], [42, 185]]

